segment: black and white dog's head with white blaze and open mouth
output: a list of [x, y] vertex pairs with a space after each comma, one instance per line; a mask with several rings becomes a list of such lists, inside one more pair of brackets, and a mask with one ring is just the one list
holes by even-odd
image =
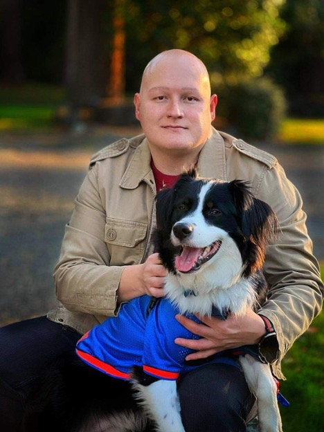
[[246, 181], [204, 179], [195, 169], [157, 194], [156, 217], [156, 251], [172, 273], [236, 268], [238, 260], [240, 276], [248, 277], [261, 269], [278, 231], [275, 213]]

